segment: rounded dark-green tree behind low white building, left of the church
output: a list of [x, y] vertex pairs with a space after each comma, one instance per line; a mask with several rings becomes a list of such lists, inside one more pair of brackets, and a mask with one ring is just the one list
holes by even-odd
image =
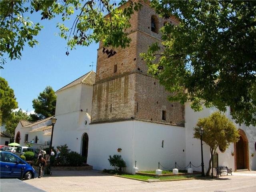
[[[55, 114], [56, 100], [57, 96], [51, 86], [47, 86], [43, 92], [40, 92], [38, 98], [32, 101], [38, 120]], [[33, 115], [32, 119], [36, 120], [33, 118]]]

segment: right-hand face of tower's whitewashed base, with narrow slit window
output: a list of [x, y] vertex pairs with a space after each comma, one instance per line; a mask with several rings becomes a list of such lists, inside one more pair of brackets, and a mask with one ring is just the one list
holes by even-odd
[[140, 170], [156, 170], [158, 162], [162, 170], [172, 170], [175, 162], [185, 167], [185, 148], [184, 127], [134, 121], [133, 166], [136, 160]]

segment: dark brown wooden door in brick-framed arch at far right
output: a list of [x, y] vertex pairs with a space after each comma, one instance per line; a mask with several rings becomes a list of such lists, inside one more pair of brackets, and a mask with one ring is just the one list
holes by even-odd
[[249, 169], [248, 139], [245, 132], [239, 129], [239, 141], [234, 144], [235, 170]]

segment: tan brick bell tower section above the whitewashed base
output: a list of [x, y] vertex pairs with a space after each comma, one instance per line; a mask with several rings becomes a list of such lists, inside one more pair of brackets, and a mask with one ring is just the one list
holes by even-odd
[[184, 127], [184, 106], [167, 100], [168, 92], [147, 74], [146, 63], [139, 56], [152, 43], [161, 42], [159, 29], [164, 23], [176, 25], [178, 21], [164, 20], [149, 2], [140, 3], [142, 8], [132, 15], [131, 28], [126, 31], [132, 39], [130, 46], [116, 49], [117, 54], [107, 58], [100, 43], [91, 124], [141, 120]]

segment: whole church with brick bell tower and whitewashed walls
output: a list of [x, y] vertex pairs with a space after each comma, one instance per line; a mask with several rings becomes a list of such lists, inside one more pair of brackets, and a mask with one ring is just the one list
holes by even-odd
[[[96, 73], [88, 72], [56, 91], [53, 146], [67, 144], [96, 170], [112, 168], [108, 158], [114, 154], [122, 156], [128, 173], [135, 164], [141, 171], [156, 170], [158, 166], [172, 170], [175, 162], [179, 169], [189, 162], [200, 166], [200, 140], [193, 138], [193, 129], [198, 118], [209, 116], [216, 108], [194, 112], [189, 103], [169, 102], [169, 93], [148, 75], [140, 53], [152, 43], [161, 42], [159, 29], [166, 22], [178, 25], [178, 20], [164, 20], [148, 2], [141, 4], [126, 30], [132, 40], [130, 46], [117, 49], [117, 54], [108, 58], [100, 43]], [[232, 120], [227, 109], [225, 114]], [[218, 148], [219, 165], [256, 170], [256, 127], [236, 127], [240, 140], [226, 150]], [[210, 148], [204, 142], [203, 150], [207, 170]]]

